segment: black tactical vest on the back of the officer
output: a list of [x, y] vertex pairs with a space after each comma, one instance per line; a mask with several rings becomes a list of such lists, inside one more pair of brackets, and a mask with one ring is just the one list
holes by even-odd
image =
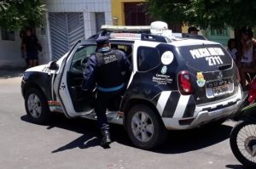
[[116, 50], [96, 53], [96, 83], [99, 87], [118, 87], [125, 82], [122, 74], [123, 57]]

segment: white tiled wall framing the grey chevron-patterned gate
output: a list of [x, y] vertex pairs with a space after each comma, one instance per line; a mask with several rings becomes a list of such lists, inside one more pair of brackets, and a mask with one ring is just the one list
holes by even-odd
[[[112, 24], [111, 0], [44, 0], [48, 13], [70, 13], [82, 12], [84, 14], [84, 38], [96, 34], [95, 13], [102, 12], [105, 14], [106, 24]], [[49, 20], [46, 16], [47, 35], [39, 37], [43, 42], [44, 57], [42, 62], [51, 59]], [[40, 57], [39, 57], [40, 59]]]

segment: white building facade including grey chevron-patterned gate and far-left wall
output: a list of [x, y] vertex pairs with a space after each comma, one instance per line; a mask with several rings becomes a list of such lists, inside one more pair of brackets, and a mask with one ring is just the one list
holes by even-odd
[[[112, 24], [111, 0], [44, 0], [44, 3], [48, 9], [44, 25], [36, 31], [43, 47], [39, 64], [59, 59], [79, 39], [95, 34], [103, 24]], [[25, 66], [20, 56], [19, 32], [14, 32], [15, 38], [0, 37], [0, 68]]]

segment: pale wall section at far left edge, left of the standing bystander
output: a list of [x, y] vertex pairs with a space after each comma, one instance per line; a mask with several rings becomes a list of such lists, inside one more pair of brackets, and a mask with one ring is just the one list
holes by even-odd
[[20, 35], [15, 32], [15, 41], [3, 41], [0, 35], [0, 69], [5, 67], [25, 67], [20, 53]]

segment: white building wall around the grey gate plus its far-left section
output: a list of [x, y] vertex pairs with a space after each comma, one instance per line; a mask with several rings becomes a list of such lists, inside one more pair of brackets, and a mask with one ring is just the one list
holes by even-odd
[[[111, 0], [44, 0], [48, 12], [82, 12], [84, 14], [84, 38], [96, 33], [95, 13], [105, 13], [106, 24], [112, 24]], [[46, 35], [37, 30], [39, 42], [43, 52], [38, 55], [39, 64], [49, 62], [51, 59], [49, 21], [48, 14], [45, 18]], [[2, 41], [0, 39], [0, 68], [3, 66], [22, 67], [25, 66], [24, 59], [20, 57], [19, 32], [15, 33], [15, 41]]]

